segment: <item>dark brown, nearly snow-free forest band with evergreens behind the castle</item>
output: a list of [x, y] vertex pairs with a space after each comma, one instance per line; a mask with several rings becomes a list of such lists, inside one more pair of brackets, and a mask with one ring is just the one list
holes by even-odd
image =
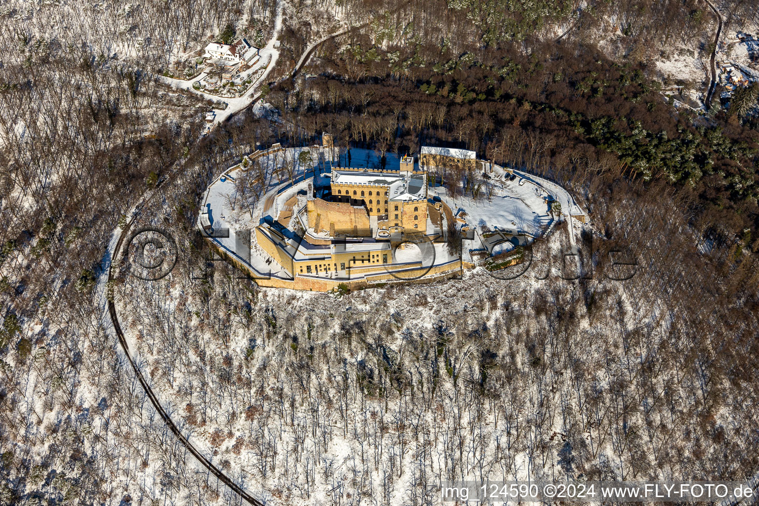
[[529, 54], [502, 46], [383, 50], [357, 34], [324, 52], [326, 73], [283, 83], [268, 99], [307, 130], [380, 151], [446, 143], [561, 180], [666, 181], [691, 195], [701, 233], [759, 247], [756, 117], [676, 112], [645, 64], [581, 42], [540, 42]]

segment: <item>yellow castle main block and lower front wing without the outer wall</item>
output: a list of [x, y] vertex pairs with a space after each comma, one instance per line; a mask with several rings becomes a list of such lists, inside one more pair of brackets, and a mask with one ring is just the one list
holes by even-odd
[[263, 224], [256, 229], [258, 244], [296, 278], [381, 279], [391, 278], [391, 270], [420, 269], [423, 259], [393, 257], [394, 238], [420, 238], [432, 228], [426, 173], [413, 170], [413, 159], [408, 165], [411, 170], [398, 172], [333, 169], [329, 193], [315, 197], [308, 184], [303, 237]]

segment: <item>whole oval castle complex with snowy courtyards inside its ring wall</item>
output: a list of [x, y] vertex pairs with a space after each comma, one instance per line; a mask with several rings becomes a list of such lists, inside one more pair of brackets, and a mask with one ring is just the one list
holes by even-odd
[[[487, 178], [487, 199], [449, 196], [436, 186], [432, 171], [440, 165]], [[330, 291], [424, 282], [483, 259], [518, 261], [519, 247], [553, 227], [558, 201], [584, 218], [565, 190], [544, 182], [556, 188], [526, 174], [515, 181], [514, 171], [464, 149], [424, 147], [415, 160], [336, 149], [325, 134], [322, 146], [275, 145], [244, 157], [209, 187], [199, 225], [261, 286]], [[245, 190], [251, 183], [261, 193], [254, 205]], [[496, 186], [510, 191], [499, 195]], [[452, 231], [460, 248], [449, 247]]]

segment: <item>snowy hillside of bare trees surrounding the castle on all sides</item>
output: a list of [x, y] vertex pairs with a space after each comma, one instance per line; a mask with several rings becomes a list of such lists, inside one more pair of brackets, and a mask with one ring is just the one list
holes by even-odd
[[[723, 30], [756, 31], [756, 2], [713, 3]], [[278, 6], [272, 76], [352, 29], [262, 86], [271, 118], [203, 136], [211, 102], [156, 76], [224, 30], [268, 36]], [[172, 420], [267, 504], [759, 473], [759, 120], [676, 108], [656, 64], [675, 46], [708, 61], [704, 0], [11, 0], [0, 19], [0, 503], [239, 504], [152, 409], [108, 300]], [[322, 132], [561, 182], [591, 222], [581, 278], [562, 272], [565, 225], [516, 279], [295, 297], [213, 262], [195, 231], [209, 181]], [[177, 237], [177, 266], [107, 284], [137, 203], [137, 225]], [[622, 249], [637, 274], [612, 281]]]

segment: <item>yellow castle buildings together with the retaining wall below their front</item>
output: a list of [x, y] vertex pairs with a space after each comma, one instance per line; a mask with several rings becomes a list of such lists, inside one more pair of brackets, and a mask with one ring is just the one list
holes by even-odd
[[[329, 190], [315, 196], [309, 181], [305, 206], [294, 209], [303, 231], [265, 222], [256, 228], [257, 244], [301, 289], [460, 272], [460, 259], [437, 253], [445, 249], [441, 204], [428, 201], [427, 171], [411, 156], [398, 162], [389, 171], [332, 167]], [[416, 257], [398, 253], [409, 241], [419, 249]]]

